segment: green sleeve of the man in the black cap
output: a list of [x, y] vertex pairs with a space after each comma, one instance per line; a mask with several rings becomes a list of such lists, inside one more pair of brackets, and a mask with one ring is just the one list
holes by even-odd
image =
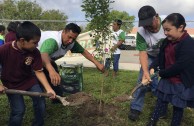
[[146, 51], [147, 49], [147, 43], [139, 33], [136, 36], [136, 49], [139, 51]]

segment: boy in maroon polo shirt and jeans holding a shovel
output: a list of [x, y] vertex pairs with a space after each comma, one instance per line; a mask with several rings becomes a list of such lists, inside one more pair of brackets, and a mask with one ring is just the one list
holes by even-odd
[[[47, 93], [55, 92], [43, 73], [42, 59], [36, 48], [40, 40], [40, 29], [31, 22], [20, 24], [16, 31], [16, 41], [0, 47], [0, 64], [2, 64], [1, 81], [8, 89], [42, 92], [37, 79], [41, 82]], [[0, 90], [5, 87], [1, 86]], [[7, 94], [10, 102], [9, 126], [21, 126], [25, 112], [24, 98], [18, 94]], [[45, 100], [42, 97], [31, 97], [35, 118], [32, 126], [44, 125]]]

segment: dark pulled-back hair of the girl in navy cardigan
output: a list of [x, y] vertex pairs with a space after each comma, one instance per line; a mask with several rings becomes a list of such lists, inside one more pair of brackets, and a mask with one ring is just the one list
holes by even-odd
[[180, 13], [172, 13], [169, 14], [163, 21], [162, 24], [164, 24], [166, 21], [171, 22], [173, 26], [176, 28], [179, 28], [181, 25], [183, 25], [183, 30], [186, 27], [185, 18]]

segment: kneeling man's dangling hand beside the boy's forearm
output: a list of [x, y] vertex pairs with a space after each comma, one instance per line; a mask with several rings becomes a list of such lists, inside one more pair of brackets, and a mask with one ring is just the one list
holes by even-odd
[[49, 72], [49, 76], [54, 86], [60, 85], [61, 77], [56, 71]]

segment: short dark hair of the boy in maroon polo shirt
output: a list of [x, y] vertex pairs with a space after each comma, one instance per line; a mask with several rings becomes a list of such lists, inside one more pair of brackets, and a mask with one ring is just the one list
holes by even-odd
[[26, 41], [33, 39], [34, 37], [40, 37], [40, 29], [29, 21], [24, 21], [21, 23], [16, 30], [16, 39], [24, 38]]

